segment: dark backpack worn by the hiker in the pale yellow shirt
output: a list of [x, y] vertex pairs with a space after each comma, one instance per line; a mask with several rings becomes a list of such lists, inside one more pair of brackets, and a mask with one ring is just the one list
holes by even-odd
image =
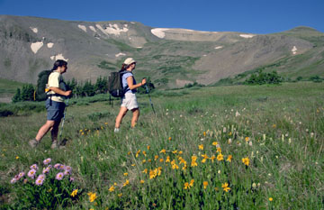
[[[51, 70], [43, 70], [40, 71], [40, 74], [38, 75], [37, 88], [36, 88], [36, 98], [38, 101], [44, 101], [50, 96], [45, 91], [45, 88], [46, 88], [46, 84], [49, 83], [49, 75], [51, 72], [52, 72]], [[63, 80], [59, 81], [59, 88], [64, 91], [67, 91], [69, 89], [69, 87], [67, 87], [67, 84]], [[52, 94], [51, 96], [61, 96], [61, 95]]]

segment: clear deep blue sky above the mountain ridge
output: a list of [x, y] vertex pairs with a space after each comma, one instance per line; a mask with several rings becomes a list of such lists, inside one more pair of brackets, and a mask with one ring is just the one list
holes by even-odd
[[0, 0], [0, 14], [67, 21], [134, 21], [207, 32], [324, 32], [324, 0]]

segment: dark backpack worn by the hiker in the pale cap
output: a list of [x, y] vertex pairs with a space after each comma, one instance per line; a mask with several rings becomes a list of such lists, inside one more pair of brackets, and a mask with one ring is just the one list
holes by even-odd
[[114, 97], [122, 97], [125, 95], [125, 90], [127, 87], [122, 87], [122, 75], [129, 73], [126, 70], [120, 70], [117, 72], [112, 72], [111, 76], [108, 78], [108, 91]]

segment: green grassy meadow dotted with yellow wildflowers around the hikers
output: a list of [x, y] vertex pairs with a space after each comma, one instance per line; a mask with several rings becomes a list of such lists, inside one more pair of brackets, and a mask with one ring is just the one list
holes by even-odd
[[[2, 117], [0, 208], [45, 208], [49, 200], [26, 198], [29, 185], [64, 196], [51, 205], [57, 209], [324, 209], [323, 89], [299, 82], [156, 91], [157, 115], [139, 96], [137, 127], [128, 113], [119, 133], [117, 100], [72, 100], [60, 150], [50, 149], [49, 133], [36, 149], [28, 145], [45, 109]], [[73, 187], [11, 183], [48, 158], [72, 168]]]

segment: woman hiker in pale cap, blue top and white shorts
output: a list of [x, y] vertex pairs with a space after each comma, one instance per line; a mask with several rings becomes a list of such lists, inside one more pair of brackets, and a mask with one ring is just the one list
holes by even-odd
[[132, 58], [125, 59], [121, 66], [121, 71], [125, 73], [122, 74], [121, 81], [122, 87], [125, 90], [125, 95], [121, 97], [121, 110], [116, 117], [116, 123], [114, 132], [119, 132], [122, 118], [130, 110], [132, 112], [131, 118], [131, 128], [134, 128], [139, 119], [139, 104], [135, 93], [137, 88], [146, 84], [146, 78], [143, 78], [141, 83], [136, 84], [136, 80], [132, 74], [132, 71], [136, 67], [136, 61]]

